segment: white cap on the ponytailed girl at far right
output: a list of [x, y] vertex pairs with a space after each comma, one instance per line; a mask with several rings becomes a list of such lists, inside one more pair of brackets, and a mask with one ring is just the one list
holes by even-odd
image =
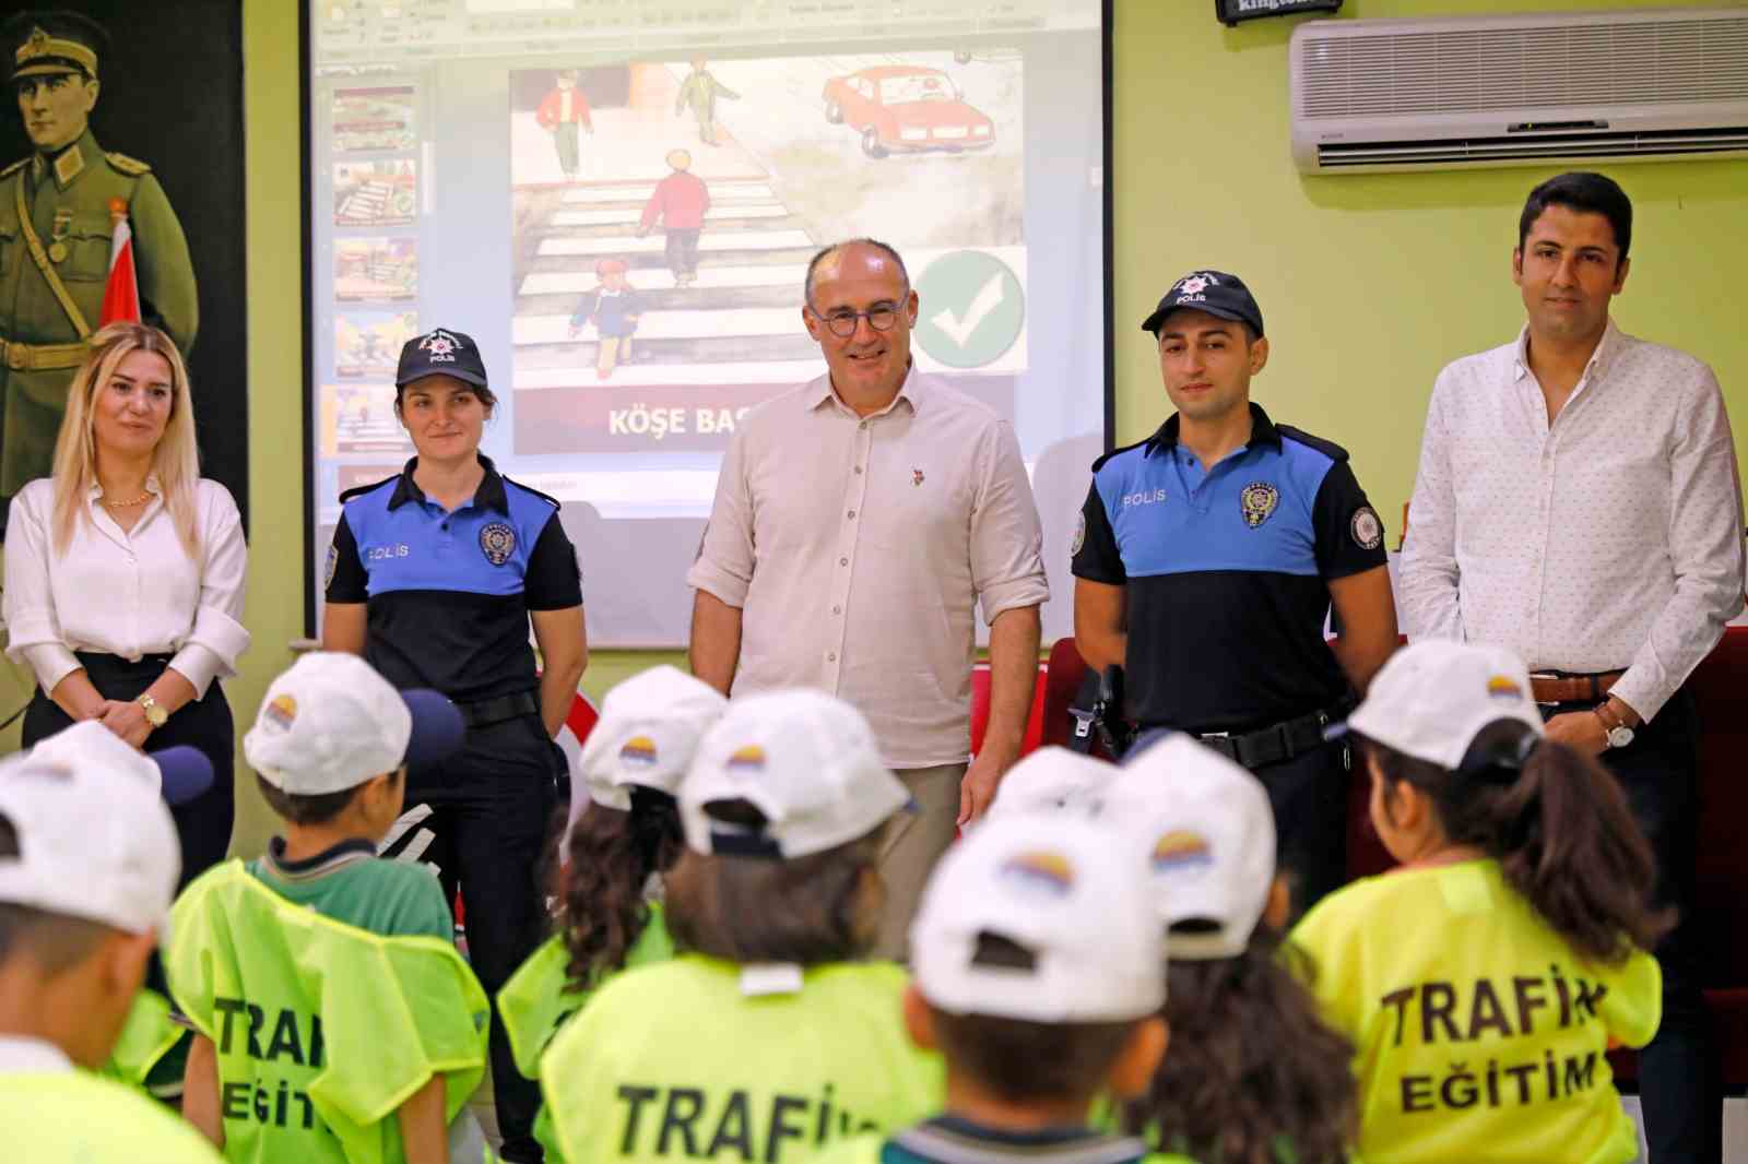
[[1365, 699], [1332, 734], [1358, 732], [1456, 771], [1481, 729], [1496, 720], [1517, 720], [1542, 736], [1523, 659], [1488, 643], [1421, 640], [1390, 655]]

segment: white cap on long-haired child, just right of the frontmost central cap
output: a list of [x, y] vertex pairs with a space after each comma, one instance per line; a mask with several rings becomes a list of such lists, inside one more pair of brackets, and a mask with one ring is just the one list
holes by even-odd
[[1105, 802], [1152, 870], [1171, 958], [1245, 953], [1274, 884], [1274, 811], [1248, 771], [1171, 734], [1124, 764]]

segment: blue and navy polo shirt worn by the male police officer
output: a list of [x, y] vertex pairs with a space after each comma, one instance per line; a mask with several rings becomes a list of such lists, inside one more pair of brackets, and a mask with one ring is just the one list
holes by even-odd
[[1250, 731], [1330, 708], [1328, 580], [1386, 563], [1348, 453], [1250, 405], [1250, 442], [1210, 470], [1178, 418], [1092, 463], [1073, 573], [1122, 585], [1129, 717]]

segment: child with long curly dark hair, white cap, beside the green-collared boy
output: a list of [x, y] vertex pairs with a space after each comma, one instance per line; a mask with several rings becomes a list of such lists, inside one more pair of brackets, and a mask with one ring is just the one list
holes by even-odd
[[[547, 1043], [594, 987], [673, 956], [661, 897], [662, 874], [685, 846], [675, 793], [697, 741], [727, 706], [715, 687], [671, 666], [607, 692], [579, 764], [589, 802], [561, 842], [558, 933], [498, 991], [516, 1068], [528, 1078], [540, 1078]], [[535, 1138], [547, 1164], [565, 1159], [545, 1105]]]

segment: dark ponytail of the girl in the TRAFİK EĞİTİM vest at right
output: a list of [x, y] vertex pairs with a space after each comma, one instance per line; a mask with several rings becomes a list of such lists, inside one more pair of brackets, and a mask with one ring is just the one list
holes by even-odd
[[[1481, 729], [1470, 755], [1521, 753], [1530, 732], [1517, 720]], [[1650, 949], [1673, 925], [1647, 895], [1657, 865], [1627, 811], [1620, 785], [1601, 764], [1550, 739], [1535, 739], [1521, 762], [1449, 771], [1376, 739], [1358, 738], [1384, 778], [1384, 800], [1409, 783], [1432, 800], [1451, 844], [1498, 858], [1505, 881], [1585, 958], [1619, 965]]]

